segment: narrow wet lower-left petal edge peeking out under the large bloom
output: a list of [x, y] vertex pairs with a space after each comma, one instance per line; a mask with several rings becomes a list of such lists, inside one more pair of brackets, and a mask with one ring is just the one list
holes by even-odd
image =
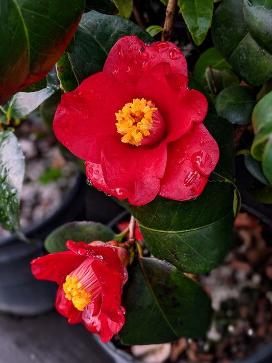
[[119, 188], [112, 189], [106, 184], [102, 171], [102, 166], [100, 164], [94, 164], [86, 161], [85, 166], [87, 178], [91, 181], [92, 185], [95, 188], [103, 190], [105, 193], [108, 193], [118, 199], [128, 198], [127, 192], [124, 189], [121, 191]]

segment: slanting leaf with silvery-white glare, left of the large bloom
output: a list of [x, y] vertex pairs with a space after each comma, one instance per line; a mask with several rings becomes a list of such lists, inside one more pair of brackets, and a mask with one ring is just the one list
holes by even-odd
[[46, 78], [46, 88], [37, 92], [18, 92], [14, 94], [7, 103], [5, 103], [3, 109], [6, 111], [8, 119], [11, 117], [22, 118], [27, 116], [59, 89], [55, 67], [46, 76]]

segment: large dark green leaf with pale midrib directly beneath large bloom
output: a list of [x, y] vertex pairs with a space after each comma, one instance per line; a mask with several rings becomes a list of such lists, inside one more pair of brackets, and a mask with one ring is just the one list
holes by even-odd
[[208, 182], [195, 200], [178, 202], [161, 197], [144, 206], [126, 202], [147, 247], [160, 259], [189, 273], [215, 268], [230, 248], [234, 187]]

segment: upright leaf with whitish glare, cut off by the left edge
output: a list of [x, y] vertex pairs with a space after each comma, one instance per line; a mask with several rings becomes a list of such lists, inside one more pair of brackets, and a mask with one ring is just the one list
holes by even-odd
[[0, 224], [22, 237], [19, 203], [24, 176], [24, 156], [16, 136], [0, 133]]

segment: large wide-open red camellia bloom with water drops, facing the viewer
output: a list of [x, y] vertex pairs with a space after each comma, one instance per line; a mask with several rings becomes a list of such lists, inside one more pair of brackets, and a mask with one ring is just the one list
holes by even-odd
[[134, 205], [157, 195], [195, 198], [218, 161], [202, 124], [207, 100], [187, 88], [185, 57], [170, 42], [119, 39], [103, 72], [62, 96], [57, 138], [86, 160], [92, 185]]

